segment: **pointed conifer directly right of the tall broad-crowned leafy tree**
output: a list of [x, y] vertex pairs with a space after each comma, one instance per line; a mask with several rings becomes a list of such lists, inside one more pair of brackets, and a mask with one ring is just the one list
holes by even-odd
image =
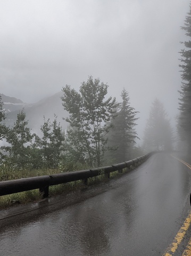
[[127, 161], [131, 158], [132, 145], [138, 138], [135, 130], [138, 112], [130, 106], [126, 89], [122, 90], [121, 97], [122, 102], [119, 103], [117, 117], [112, 120], [113, 128], [108, 134], [109, 146], [115, 149], [109, 153], [109, 156], [118, 162]]

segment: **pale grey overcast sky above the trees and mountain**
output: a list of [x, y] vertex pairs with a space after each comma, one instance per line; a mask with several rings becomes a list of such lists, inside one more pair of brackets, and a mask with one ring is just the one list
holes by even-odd
[[126, 88], [142, 120], [155, 97], [173, 119], [189, 3], [0, 0], [0, 92], [34, 103], [93, 75], [118, 100]]

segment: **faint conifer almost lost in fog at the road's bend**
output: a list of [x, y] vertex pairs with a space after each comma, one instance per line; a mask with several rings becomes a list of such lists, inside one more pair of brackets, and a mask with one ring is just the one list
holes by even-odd
[[159, 99], [152, 103], [150, 114], [146, 123], [143, 148], [146, 151], [172, 150], [173, 131], [170, 120]]

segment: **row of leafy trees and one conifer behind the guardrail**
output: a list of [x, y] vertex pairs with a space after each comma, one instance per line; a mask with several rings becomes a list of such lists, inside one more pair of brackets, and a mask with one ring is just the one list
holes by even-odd
[[0, 164], [15, 168], [57, 168], [67, 161], [97, 167], [111, 161], [125, 161], [134, 150], [137, 133], [136, 114], [130, 106], [128, 92], [123, 89], [122, 102], [107, 96], [108, 85], [88, 77], [79, 92], [63, 87], [62, 105], [68, 111], [67, 131], [63, 131], [55, 115], [46, 120], [39, 137], [31, 133], [24, 110], [17, 115], [13, 127], [3, 124], [5, 112], [0, 98]]

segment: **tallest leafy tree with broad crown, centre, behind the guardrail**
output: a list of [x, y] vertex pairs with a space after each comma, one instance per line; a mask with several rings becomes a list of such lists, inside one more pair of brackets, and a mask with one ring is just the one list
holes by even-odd
[[70, 86], [62, 89], [62, 105], [70, 113], [66, 120], [72, 128], [72, 133], [68, 134], [71, 146], [84, 152], [90, 166], [101, 165], [107, 143], [104, 134], [111, 128], [106, 122], [111, 120], [116, 104], [115, 98], [105, 100], [107, 88], [107, 84], [100, 83], [99, 79], [93, 81], [89, 76], [87, 82], [82, 82], [79, 92]]

